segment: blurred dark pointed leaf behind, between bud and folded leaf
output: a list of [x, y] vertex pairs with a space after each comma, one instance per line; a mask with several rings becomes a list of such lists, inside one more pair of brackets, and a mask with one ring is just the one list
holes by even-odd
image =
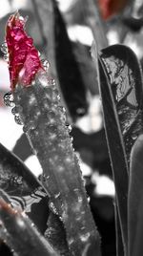
[[86, 89], [64, 20], [55, 1], [53, 1], [53, 6], [56, 69], [69, 112], [75, 118], [78, 114], [84, 115], [87, 112]]

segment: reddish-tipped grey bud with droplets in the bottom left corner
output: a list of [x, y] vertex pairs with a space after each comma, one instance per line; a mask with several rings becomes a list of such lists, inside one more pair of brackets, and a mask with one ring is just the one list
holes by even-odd
[[0, 199], [0, 236], [16, 256], [57, 255], [24, 213]]

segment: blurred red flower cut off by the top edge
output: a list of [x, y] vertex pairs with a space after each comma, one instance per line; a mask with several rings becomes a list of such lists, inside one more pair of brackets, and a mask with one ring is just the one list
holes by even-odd
[[128, 0], [98, 0], [98, 6], [101, 16], [104, 20], [117, 14], [127, 5]]

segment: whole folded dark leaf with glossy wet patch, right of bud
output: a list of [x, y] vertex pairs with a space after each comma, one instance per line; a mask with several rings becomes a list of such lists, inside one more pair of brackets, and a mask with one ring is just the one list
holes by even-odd
[[133, 51], [121, 45], [102, 51], [100, 72], [105, 126], [127, 252], [127, 162], [129, 165], [133, 143], [142, 133], [142, 74]]

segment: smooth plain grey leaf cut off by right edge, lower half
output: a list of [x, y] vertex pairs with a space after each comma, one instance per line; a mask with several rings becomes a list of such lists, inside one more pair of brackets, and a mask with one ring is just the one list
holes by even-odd
[[129, 255], [143, 253], [143, 135], [136, 139], [131, 156], [129, 183]]

